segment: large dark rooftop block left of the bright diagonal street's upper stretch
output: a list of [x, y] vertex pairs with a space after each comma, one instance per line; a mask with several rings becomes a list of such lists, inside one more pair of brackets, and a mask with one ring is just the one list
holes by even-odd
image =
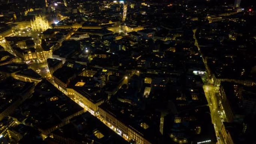
[[12, 117], [24, 121], [27, 125], [47, 130], [82, 110], [82, 107], [60, 92], [54, 85], [47, 80], [42, 80], [36, 85], [33, 96], [24, 101], [12, 114]]

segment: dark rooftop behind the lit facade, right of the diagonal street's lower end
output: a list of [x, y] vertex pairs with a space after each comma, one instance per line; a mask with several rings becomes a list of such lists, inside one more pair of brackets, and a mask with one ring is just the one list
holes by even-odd
[[[160, 119], [158, 113], [151, 111], [149, 116], [145, 111], [117, 100], [104, 102], [99, 107], [129, 128], [134, 129], [150, 143], [156, 143], [160, 137], [159, 125], [156, 124]], [[146, 127], [142, 125], [146, 125]]]

